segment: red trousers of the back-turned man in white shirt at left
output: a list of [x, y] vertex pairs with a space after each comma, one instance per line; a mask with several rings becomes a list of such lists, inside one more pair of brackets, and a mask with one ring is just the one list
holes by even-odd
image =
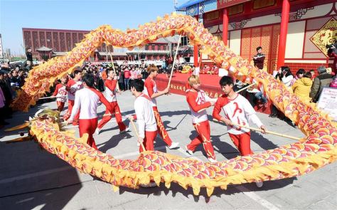
[[[97, 149], [94, 137], [92, 135], [94, 134], [96, 128], [97, 128], [97, 117], [94, 119], [80, 119], [79, 120], [79, 126], [78, 128], [80, 129], [80, 137], [87, 133], [89, 137], [87, 138], [87, 144], [94, 148]], [[97, 149], [98, 150], [98, 149]]]

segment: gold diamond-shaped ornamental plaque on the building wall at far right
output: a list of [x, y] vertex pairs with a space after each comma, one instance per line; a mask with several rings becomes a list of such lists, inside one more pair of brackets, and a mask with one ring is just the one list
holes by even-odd
[[319, 31], [311, 36], [310, 41], [319, 48], [325, 56], [328, 57], [328, 51], [326, 45], [335, 43], [337, 40], [337, 21], [331, 18], [326, 22]]

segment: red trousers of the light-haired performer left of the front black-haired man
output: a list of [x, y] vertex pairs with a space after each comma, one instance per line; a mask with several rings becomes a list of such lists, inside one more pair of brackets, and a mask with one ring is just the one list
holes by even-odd
[[207, 157], [215, 159], [213, 145], [210, 142], [210, 122], [206, 120], [196, 124], [193, 123], [193, 126], [198, 132], [198, 137], [196, 137], [189, 145], [187, 145], [187, 149], [194, 152], [196, 147], [203, 143], [203, 149], [205, 149]]

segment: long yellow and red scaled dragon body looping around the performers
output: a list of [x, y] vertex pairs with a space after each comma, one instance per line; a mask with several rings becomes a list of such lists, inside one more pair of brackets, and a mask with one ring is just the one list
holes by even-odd
[[95, 51], [102, 43], [112, 46], [132, 48], [143, 46], [162, 36], [183, 33], [193, 44], [202, 46], [215, 63], [232, 65], [234, 75], [255, 78], [264, 87], [268, 97], [279, 110], [289, 117], [306, 135], [300, 142], [284, 145], [246, 157], [236, 157], [225, 162], [209, 163], [195, 159], [185, 159], [157, 151], [143, 152], [135, 160], [114, 159], [109, 154], [89, 147], [85, 138], [80, 140], [60, 132], [58, 126], [49, 120], [31, 122], [31, 134], [49, 152], [58, 155], [82, 172], [95, 175], [119, 186], [137, 188], [154, 180], [157, 184], [171, 182], [183, 188], [192, 187], [198, 194], [200, 187], [207, 189], [208, 195], [214, 187], [226, 189], [228, 184], [284, 179], [312, 172], [337, 158], [337, 129], [326, 114], [314, 105], [301, 102], [282, 83], [274, 80], [263, 70], [258, 70], [213, 37], [203, 25], [191, 16], [172, 14], [158, 18], [155, 23], [146, 23], [137, 30], [126, 33], [100, 26], [88, 33], [66, 56], [50, 59], [38, 65], [29, 73], [19, 97], [14, 101], [16, 110], [28, 110], [34, 105], [53, 82], [71, 73], [75, 66]]

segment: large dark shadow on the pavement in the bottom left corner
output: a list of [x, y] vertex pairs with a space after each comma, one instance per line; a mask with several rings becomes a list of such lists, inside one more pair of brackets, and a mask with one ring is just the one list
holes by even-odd
[[82, 188], [73, 167], [35, 142], [0, 143], [0, 209], [63, 209]]

